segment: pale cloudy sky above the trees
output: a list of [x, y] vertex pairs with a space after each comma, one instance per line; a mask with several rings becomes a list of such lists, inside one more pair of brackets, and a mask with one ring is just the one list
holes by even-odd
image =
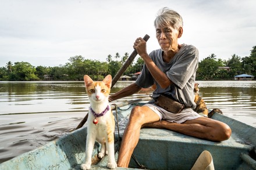
[[106, 62], [131, 54], [145, 34], [150, 53], [159, 49], [154, 20], [165, 6], [183, 17], [179, 43], [194, 45], [199, 60], [250, 56], [256, 46], [255, 0], [0, 0], [0, 67], [60, 66], [78, 55]]

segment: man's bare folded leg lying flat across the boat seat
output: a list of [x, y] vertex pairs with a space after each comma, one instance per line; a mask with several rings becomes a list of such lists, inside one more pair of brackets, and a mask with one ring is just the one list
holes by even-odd
[[193, 136], [195, 138], [211, 140], [214, 142], [221, 142], [229, 139], [232, 132], [230, 127], [225, 123], [205, 117], [187, 120], [183, 122], [183, 124], [176, 124], [162, 120], [145, 124], [143, 126], [151, 128], [165, 128]]

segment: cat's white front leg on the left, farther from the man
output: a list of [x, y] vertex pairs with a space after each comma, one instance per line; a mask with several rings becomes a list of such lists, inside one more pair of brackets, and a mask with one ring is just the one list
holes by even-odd
[[[88, 133], [88, 132], [87, 132]], [[95, 143], [95, 134], [88, 133], [87, 140], [86, 140], [86, 159], [84, 164], [81, 164], [80, 168], [83, 170], [91, 168], [91, 157], [93, 154], [93, 148]]]

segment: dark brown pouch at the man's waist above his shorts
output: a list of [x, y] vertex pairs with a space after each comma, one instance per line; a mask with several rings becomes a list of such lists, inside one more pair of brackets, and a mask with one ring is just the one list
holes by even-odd
[[185, 105], [182, 103], [179, 103], [173, 99], [170, 99], [169, 97], [160, 95], [157, 98], [157, 101], [155, 102], [155, 105], [164, 108], [165, 110], [177, 114], [180, 113], [184, 108]]

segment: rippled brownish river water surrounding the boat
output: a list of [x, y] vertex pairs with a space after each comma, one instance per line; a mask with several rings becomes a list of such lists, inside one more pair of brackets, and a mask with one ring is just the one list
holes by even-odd
[[[131, 81], [119, 81], [115, 93]], [[256, 81], [198, 81], [209, 109], [256, 127]], [[116, 102], [149, 96], [142, 92]], [[89, 107], [84, 82], [0, 82], [0, 163], [76, 128]]]

